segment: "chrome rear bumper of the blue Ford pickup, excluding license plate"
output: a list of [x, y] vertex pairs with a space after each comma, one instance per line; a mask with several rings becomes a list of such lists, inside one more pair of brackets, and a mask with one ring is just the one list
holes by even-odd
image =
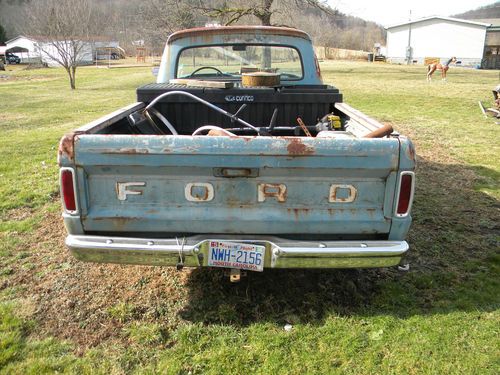
[[66, 245], [86, 262], [203, 267], [208, 265], [211, 240], [264, 245], [265, 268], [389, 267], [408, 251], [406, 241], [292, 241], [242, 235], [173, 239], [69, 235]]

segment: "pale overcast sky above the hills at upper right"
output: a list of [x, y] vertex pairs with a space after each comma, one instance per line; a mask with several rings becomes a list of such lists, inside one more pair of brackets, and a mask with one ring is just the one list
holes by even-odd
[[462, 13], [495, 0], [328, 0], [343, 13], [375, 21], [383, 26], [428, 16], [449, 16]]

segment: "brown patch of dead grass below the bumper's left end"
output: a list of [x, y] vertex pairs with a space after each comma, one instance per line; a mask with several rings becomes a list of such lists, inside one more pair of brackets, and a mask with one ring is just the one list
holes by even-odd
[[64, 245], [65, 233], [60, 214], [48, 214], [28, 248], [19, 248], [28, 256], [12, 265], [2, 285], [21, 287], [37, 336], [69, 339], [82, 351], [106, 339], [126, 340], [122, 328], [132, 320], [178, 322], [180, 305], [171, 301], [185, 301], [190, 271], [79, 262]]

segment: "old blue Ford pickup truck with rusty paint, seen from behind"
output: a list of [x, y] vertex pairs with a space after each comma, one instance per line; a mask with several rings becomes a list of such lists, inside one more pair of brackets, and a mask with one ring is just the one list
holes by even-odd
[[342, 102], [310, 37], [176, 32], [137, 102], [60, 142], [66, 244], [83, 261], [387, 267], [408, 250], [415, 150]]

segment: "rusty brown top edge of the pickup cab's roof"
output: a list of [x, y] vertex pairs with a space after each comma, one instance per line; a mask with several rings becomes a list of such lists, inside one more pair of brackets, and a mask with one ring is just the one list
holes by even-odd
[[214, 35], [231, 35], [231, 34], [264, 34], [270, 36], [295, 36], [306, 40], [311, 40], [311, 37], [297, 29], [289, 27], [274, 27], [274, 26], [223, 26], [223, 27], [196, 27], [177, 31], [170, 35], [167, 44], [171, 44], [174, 40], [181, 38], [197, 38], [202, 37], [206, 42], [211, 42]]

